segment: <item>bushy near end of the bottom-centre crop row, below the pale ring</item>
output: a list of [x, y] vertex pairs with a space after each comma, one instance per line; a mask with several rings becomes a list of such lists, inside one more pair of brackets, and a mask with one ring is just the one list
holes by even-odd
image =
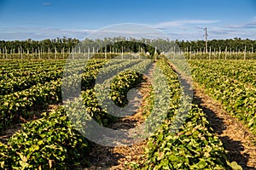
[[178, 133], [170, 132], [172, 126], [164, 124], [149, 138], [143, 169], [231, 169], [221, 141], [197, 106]]

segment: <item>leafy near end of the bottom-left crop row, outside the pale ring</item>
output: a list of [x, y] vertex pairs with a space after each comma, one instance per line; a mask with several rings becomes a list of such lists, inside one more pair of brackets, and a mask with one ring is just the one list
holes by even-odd
[[41, 119], [24, 124], [0, 149], [1, 168], [72, 169], [85, 163], [83, 159], [90, 151], [90, 144], [59, 107], [44, 113]]

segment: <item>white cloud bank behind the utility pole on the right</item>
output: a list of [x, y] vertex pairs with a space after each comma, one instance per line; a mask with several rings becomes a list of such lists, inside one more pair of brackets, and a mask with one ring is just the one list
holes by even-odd
[[173, 20], [154, 25], [166, 32], [172, 39], [204, 39], [204, 28], [207, 27], [209, 39], [229, 39], [234, 37], [256, 39], [256, 16], [248, 22], [225, 24], [220, 20]]

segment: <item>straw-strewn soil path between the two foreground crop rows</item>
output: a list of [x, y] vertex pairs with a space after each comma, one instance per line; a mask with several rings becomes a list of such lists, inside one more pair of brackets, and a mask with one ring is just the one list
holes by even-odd
[[[146, 74], [148, 77], [152, 76], [153, 69], [154, 64]], [[149, 82], [148, 77], [144, 77], [144, 82], [142, 82], [138, 87], [139, 93], [143, 99], [140, 107], [136, 111], [136, 114], [122, 118], [120, 122], [114, 123], [111, 128], [118, 129], [136, 127], [144, 121], [143, 108], [145, 105], [148, 105], [147, 98], [150, 96], [151, 92], [151, 83]], [[133, 101], [131, 100], [131, 102]], [[131, 169], [129, 163], [131, 161], [140, 161], [144, 154], [146, 144], [146, 140], [125, 147], [106, 147], [100, 144], [94, 144], [92, 152], [90, 152], [90, 156], [88, 157], [91, 166], [85, 169]]]

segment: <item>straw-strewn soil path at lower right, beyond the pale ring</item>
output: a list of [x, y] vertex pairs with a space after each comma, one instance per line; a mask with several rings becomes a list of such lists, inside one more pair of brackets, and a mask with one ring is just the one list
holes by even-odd
[[196, 82], [194, 102], [207, 114], [211, 127], [229, 151], [230, 161], [236, 161], [243, 169], [256, 169], [255, 136], [236, 117], [224, 111], [217, 100], [205, 94]]

